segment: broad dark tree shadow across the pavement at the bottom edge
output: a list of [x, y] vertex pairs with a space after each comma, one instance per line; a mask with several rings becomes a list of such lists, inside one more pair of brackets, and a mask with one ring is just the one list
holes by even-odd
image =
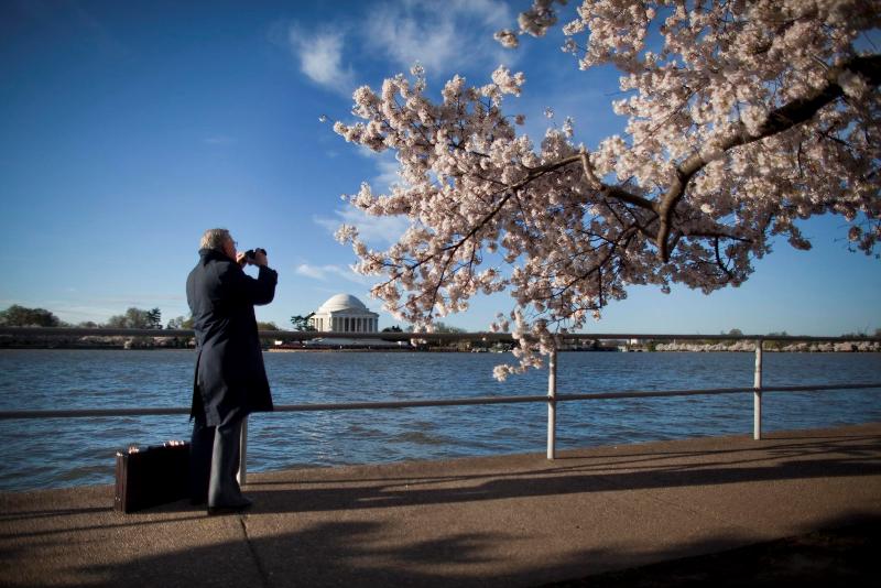
[[[855, 524], [853, 521], [862, 521]], [[244, 523], [243, 523], [244, 524]], [[842, 524], [849, 526], [841, 527]], [[407, 545], [382, 545], [383, 525], [339, 522], [298, 533], [251, 538], [255, 558], [243, 557], [238, 543], [220, 543], [185, 553], [88, 568], [102, 578], [85, 586], [224, 586], [236, 578], [249, 586], [874, 586], [881, 547], [879, 520], [852, 514], [827, 521], [800, 537], [730, 549], [739, 537], [719, 535], [673, 545], [652, 554], [653, 560], [690, 551], [709, 553], [633, 568], [640, 554], [626, 547], [588, 549], [542, 566], [503, 566], [496, 573], [490, 547], [510, 537], [471, 533]], [[208, 565], [206, 565], [208, 564]], [[454, 571], [459, 570], [459, 571]], [[472, 570], [464, 573], [461, 570]], [[609, 571], [617, 570], [617, 571]], [[556, 578], [578, 578], [547, 585]], [[846, 584], [841, 584], [845, 581]]]

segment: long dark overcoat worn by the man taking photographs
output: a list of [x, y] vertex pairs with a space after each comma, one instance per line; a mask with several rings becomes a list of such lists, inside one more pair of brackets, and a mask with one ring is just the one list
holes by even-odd
[[217, 426], [272, 410], [254, 305], [272, 302], [278, 279], [264, 266], [253, 279], [222, 252], [199, 251], [186, 281], [198, 350], [191, 417], [204, 414], [208, 426]]

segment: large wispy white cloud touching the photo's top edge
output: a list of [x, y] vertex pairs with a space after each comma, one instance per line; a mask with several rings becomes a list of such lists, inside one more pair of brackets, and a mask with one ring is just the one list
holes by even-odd
[[516, 58], [492, 39], [513, 19], [510, 7], [499, 0], [382, 3], [367, 19], [366, 42], [405, 69], [420, 62], [429, 75], [474, 65], [494, 67]]

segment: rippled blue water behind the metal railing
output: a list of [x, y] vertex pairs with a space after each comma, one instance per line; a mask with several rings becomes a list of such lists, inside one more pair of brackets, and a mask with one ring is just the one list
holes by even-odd
[[[496, 382], [511, 355], [264, 353], [276, 404], [545, 394], [546, 371]], [[0, 350], [0, 410], [188, 406], [185, 350]], [[559, 393], [752, 385], [752, 353], [561, 353]], [[765, 385], [881, 381], [879, 353], [765, 353]], [[260, 413], [248, 468], [544, 453], [544, 404]], [[768, 393], [765, 431], [881, 421], [881, 391]], [[131, 443], [189, 437], [184, 415], [0, 421], [0, 490], [111, 483]], [[559, 449], [752, 432], [752, 394], [567, 402]]]

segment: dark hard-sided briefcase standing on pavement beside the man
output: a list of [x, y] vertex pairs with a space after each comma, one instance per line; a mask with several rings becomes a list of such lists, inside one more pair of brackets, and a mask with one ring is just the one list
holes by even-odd
[[113, 508], [135, 512], [189, 497], [189, 444], [166, 442], [117, 451]]

